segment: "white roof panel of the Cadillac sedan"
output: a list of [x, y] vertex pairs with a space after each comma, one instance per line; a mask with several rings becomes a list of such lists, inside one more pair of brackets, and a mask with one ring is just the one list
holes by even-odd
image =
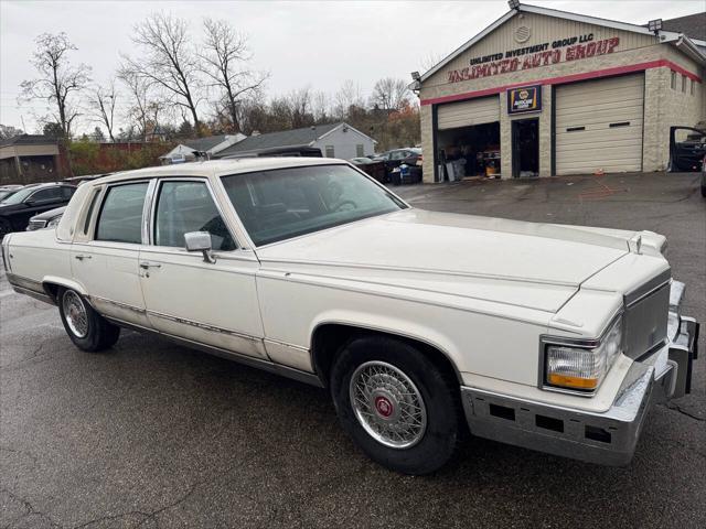
[[340, 165], [347, 164], [345, 160], [334, 158], [239, 158], [233, 160], [210, 160], [205, 162], [190, 162], [181, 164], [159, 165], [156, 168], [124, 171], [104, 176], [90, 182], [100, 185], [124, 180], [135, 180], [153, 176], [223, 176], [226, 174], [252, 173], [272, 169], [304, 168], [308, 165]]

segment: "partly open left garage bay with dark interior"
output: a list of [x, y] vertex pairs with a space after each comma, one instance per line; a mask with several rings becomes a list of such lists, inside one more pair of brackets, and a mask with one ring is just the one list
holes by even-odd
[[439, 180], [500, 175], [498, 96], [440, 105], [436, 134]]

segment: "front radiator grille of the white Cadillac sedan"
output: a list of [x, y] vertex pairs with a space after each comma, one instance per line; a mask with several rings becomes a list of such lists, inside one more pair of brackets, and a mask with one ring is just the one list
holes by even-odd
[[625, 295], [624, 354], [639, 358], [666, 338], [670, 312], [667, 271]]

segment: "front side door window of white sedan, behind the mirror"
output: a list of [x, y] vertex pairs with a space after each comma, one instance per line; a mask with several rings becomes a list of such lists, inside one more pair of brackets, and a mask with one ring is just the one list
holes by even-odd
[[154, 244], [183, 248], [184, 235], [208, 231], [214, 250], [234, 250], [228, 233], [204, 182], [164, 182], [157, 201]]

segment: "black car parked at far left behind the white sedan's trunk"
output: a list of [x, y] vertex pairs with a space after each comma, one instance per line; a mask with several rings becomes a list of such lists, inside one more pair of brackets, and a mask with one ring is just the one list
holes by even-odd
[[34, 215], [65, 206], [75, 191], [75, 185], [64, 183], [31, 184], [6, 197], [0, 202], [0, 240], [24, 230]]

